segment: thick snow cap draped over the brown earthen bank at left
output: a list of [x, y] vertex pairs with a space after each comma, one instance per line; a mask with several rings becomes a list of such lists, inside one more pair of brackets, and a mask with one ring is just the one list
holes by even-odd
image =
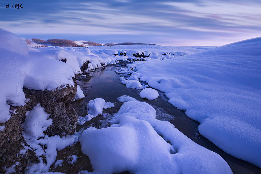
[[74, 85], [68, 64], [28, 56], [26, 42], [4, 29], [0, 29], [0, 55], [0, 123], [10, 119], [10, 105], [24, 105], [23, 87], [53, 90]]

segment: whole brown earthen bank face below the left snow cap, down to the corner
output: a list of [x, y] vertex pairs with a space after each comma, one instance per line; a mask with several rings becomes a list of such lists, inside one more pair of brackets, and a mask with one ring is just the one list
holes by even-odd
[[[50, 114], [52, 125], [48, 127], [45, 134], [72, 135], [76, 130], [78, 115], [71, 105], [77, 91], [77, 83], [74, 86], [66, 86], [53, 91], [39, 91], [23, 88], [27, 100], [25, 106], [10, 106], [11, 118], [5, 122], [5, 129], [0, 131], [0, 173], [12, 169], [13, 173], [24, 173], [29, 162], [39, 162], [35, 152], [23, 138], [22, 123], [25, 120], [26, 111], [32, 110], [40, 103], [45, 112]], [[28, 148], [29, 147], [29, 148]], [[21, 149], [29, 149], [25, 154], [20, 154]]]

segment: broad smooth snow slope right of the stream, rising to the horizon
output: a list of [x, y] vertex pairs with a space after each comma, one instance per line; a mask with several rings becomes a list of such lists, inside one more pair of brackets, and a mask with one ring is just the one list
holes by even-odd
[[[132, 73], [166, 93], [200, 123], [199, 132], [261, 167], [261, 38], [169, 60], [135, 62]], [[160, 68], [159, 68], [160, 67]]]

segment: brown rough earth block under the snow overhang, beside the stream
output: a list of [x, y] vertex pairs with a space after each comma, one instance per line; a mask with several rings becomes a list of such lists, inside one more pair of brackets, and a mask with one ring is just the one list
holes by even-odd
[[74, 134], [78, 120], [78, 115], [71, 105], [71, 101], [74, 100], [77, 91], [75, 79], [74, 84], [72, 87], [67, 86], [55, 91], [23, 88], [26, 98], [30, 99], [26, 104], [27, 111], [32, 110], [36, 104], [40, 103], [41, 107], [44, 107], [45, 112], [50, 114], [52, 125], [46, 130], [48, 136], [62, 136], [63, 133], [66, 135]]

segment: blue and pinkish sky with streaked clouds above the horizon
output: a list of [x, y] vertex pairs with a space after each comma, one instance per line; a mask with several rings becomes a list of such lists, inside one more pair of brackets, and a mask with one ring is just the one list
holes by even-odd
[[27, 39], [221, 46], [260, 37], [260, 9], [260, 0], [1, 0], [0, 28]]

